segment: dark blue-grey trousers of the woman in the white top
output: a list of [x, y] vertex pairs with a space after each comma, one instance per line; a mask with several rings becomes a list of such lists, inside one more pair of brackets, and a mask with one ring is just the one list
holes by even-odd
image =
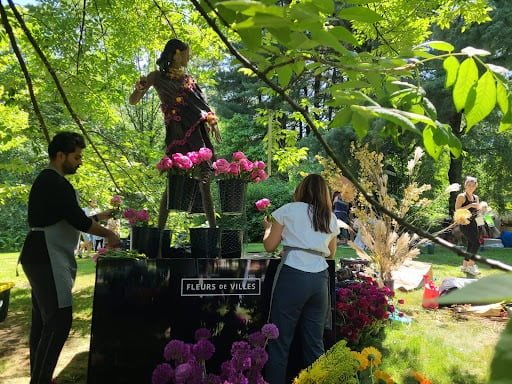
[[311, 365], [324, 353], [329, 272], [303, 272], [284, 265], [277, 279], [270, 322], [279, 329], [279, 337], [269, 342], [265, 379], [269, 384], [287, 384], [288, 356], [297, 324], [301, 327], [299, 333], [304, 367]]

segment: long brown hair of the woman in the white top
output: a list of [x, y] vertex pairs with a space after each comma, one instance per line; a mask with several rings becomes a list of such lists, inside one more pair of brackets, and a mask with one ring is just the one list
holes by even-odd
[[309, 204], [309, 217], [315, 231], [331, 233], [331, 199], [322, 176], [314, 173], [306, 176], [295, 188], [293, 199]]

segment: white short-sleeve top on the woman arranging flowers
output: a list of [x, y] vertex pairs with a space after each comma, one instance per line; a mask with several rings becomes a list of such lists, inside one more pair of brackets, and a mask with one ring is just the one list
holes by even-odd
[[[340, 233], [336, 216], [331, 213], [331, 233], [315, 231], [309, 215], [309, 204], [295, 202], [283, 205], [272, 212], [275, 221], [283, 225], [281, 244], [290, 247], [311, 249], [329, 256], [329, 243]], [[291, 250], [285, 264], [304, 272], [321, 272], [327, 269], [325, 257], [302, 250]]]

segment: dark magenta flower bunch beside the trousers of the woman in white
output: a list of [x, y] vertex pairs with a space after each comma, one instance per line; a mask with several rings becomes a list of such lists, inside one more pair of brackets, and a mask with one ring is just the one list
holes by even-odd
[[357, 345], [377, 336], [395, 312], [391, 302], [394, 295], [388, 287], [379, 287], [376, 280], [367, 276], [338, 288], [336, 325], [340, 337], [350, 345]]

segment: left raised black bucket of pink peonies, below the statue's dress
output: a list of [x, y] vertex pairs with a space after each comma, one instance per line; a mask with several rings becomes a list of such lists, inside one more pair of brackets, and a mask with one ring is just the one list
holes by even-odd
[[210, 161], [213, 156], [209, 148], [186, 154], [173, 153], [164, 156], [156, 165], [161, 173], [167, 173], [167, 208], [190, 212], [198, 193], [200, 164]]

